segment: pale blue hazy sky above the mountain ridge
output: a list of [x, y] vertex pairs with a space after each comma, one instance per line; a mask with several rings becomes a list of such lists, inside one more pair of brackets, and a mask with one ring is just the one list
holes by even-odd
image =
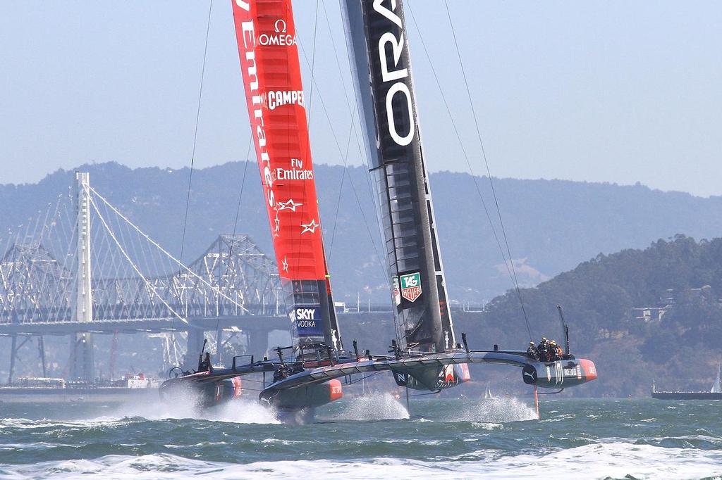
[[[338, 2], [318, 4], [314, 160], [342, 164], [334, 133], [345, 151], [346, 44]], [[722, 195], [722, 2], [449, 4], [492, 174]], [[89, 161], [188, 166], [208, 6], [4, 0], [0, 183]], [[429, 167], [468, 171], [409, 6], [482, 173], [443, 1], [415, 0], [407, 22]], [[295, 1], [309, 59], [315, 10], [315, 0]], [[310, 68], [304, 74], [308, 102]], [[249, 136], [230, 0], [214, 0], [196, 166], [245, 158]], [[349, 151], [359, 164], [354, 141]]]

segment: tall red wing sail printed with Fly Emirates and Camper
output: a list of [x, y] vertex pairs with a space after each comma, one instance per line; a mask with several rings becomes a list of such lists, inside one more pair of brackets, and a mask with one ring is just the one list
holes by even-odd
[[341, 334], [323, 252], [290, 0], [232, 0], [240, 68], [296, 350]]

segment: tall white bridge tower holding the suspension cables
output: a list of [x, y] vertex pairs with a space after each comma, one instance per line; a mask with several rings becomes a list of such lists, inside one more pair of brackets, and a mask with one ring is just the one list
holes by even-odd
[[[90, 174], [75, 172], [77, 196], [77, 270], [74, 320], [92, 322], [92, 287], [90, 265]], [[92, 382], [95, 380], [92, 335], [77, 333], [70, 339], [69, 378]]]

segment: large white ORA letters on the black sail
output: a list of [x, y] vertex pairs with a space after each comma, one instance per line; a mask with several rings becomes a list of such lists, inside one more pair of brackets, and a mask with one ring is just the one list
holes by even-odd
[[[414, 133], [416, 126], [414, 125], [414, 114], [413, 114], [413, 103], [411, 98], [411, 91], [409, 86], [406, 85], [404, 80], [409, 76], [408, 68], [399, 68], [399, 61], [401, 60], [401, 54], [404, 53], [406, 44], [404, 43], [404, 24], [401, 22], [401, 18], [394, 13], [396, 10], [396, 0], [391, 0], [391, 10], [382, 5], [383, 0], [374, 0], [373, 9], [375, 12], [383, 15], [387, 19], [391, 20], [394, 24], [399, 27], [399, 36], [393, 34], [393, 32], [386, 32], [378, 39], [378, 57], [381, 63], [381, 81], [383, 83], [393, 81], [388, 92], [386, 92], [386, 120], [388, 122], [388, 133], [393, 138], [393, 141], [401, 146], [409, 145], [414, 139]], [[391, 46], [392, 58], [387, 58], [386, 51], [387, 46]], [[409, 133], [401, 135], [396, 130], [396, 122], [393, 120], [393, 99], [399, 96], [406, 102], [406, 114], [409, 115]]]

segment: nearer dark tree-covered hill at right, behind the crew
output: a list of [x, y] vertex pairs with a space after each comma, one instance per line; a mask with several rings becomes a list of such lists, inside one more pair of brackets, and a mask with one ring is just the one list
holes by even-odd
[[[600, 254], [521, 296], [537, 341], [561, 339], [560, 303], [573, 353], [595, 360], [599, 380], [575, 394], [647, 395], [653, 379], [658, 388], [709, 389], [722, 361], [722, 239], [678, 235]], [[638, 307], [664, 314], [638, 318]], [[491, 301], [477, 321], [502, 345], [529, 341], [514, 292]]]

